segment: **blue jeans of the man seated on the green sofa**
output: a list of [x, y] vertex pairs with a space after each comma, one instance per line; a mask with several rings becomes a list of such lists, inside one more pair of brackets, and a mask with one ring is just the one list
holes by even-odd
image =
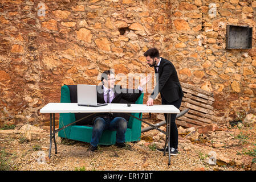
[[92, 129], [91, 145], [96, 147], [104, 130], [116, 131], [116, 142], [124, 143], [124, 134], [127, 130], [127, 121], [124, 118], [96, 118]]

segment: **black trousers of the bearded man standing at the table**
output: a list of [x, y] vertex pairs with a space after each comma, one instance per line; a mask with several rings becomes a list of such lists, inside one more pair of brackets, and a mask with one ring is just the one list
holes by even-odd
[[[182, 97], [174, 102], [168, 102], [165, 100], [164, 97], [161, 97], [161, 98], [162, 98], [162, 105], [174, 105], [175, 107], [180, 109]], [[178, 149], [178, 129], [175, 123], [176, 115], [177, 114], [170, 114], [170, 147]], [[165, 121], [166, 121], [166, 116], [167, 114], [164, 114]]]

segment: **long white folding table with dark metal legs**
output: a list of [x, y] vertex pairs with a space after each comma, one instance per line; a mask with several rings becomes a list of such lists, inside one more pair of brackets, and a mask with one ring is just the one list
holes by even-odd
[[[55, 134], [58, 133], [60, 130], [65, 129], [66, 127], [81, 121], [84, 118], [90, 117], [92, 114], [88, 115], [87, 117], [84, 117], [82, 119], [79, 119], [73, 123], [70, 123], [61, 129], [55, 130], [55, 113], [127, 113], [131, 117], [134, 117], [133, 115], [129, 113], [165, 113], [167, 114], [166, 117], [166, 139], [165, 139], [165, 147], [168, 143], [168, 154], [169, 154], [169, 163], [170, 165], [170, 114], [173, 113], [180, 113], [180, 110], [178, 110], [173, 105], [153, 105], [153, 106], [147, 106], [145, 104], [131, 104], [131, 106], [127, 106], [127, 104], [108, 104], [105, 106], [100, 107], [86, 107], [86, 106], [78, 106], [77, 103], [49, 103], [46, 106], [44, 106], [42, 109], [40, 109], [40, 113], [48, 113], [50, 114], [50, 150], [49, 150], [49, 158], [51, 157], [51, 145], [52, 145], [52, 139], [54, 139], [55, 144], [55, 154], [57, 154], [57, 146], [56, 146], [56, 140], [55, 140]], [[136, 118], [136, 117], [134, 117]], [[139, 119], [139, 118], [136, 118]], [[139, 119], [141, 122], [147, 123], [141, 119]], [[53, 131], [52, 131], [52, 121], [53, 121]], [[157, 129], [161, 131], [159, 128], [151, 125], [150, 123], [147, 123], [148, 125], [152, 126], [154, 129]], [[161, 131], [162, 132], [162, 131]], [[164, 152], [165, 155], [165, 152]]]

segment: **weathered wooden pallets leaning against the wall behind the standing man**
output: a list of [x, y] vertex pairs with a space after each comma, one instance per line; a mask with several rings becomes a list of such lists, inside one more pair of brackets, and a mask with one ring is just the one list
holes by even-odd
[[184, 93], [180, 110], [189, 109], [188, 113], [176, 119], [178, 126], [195, 127], [207, 125], [214, 120], [212, 92], [207, 92], [194, 85], [181, 82]]

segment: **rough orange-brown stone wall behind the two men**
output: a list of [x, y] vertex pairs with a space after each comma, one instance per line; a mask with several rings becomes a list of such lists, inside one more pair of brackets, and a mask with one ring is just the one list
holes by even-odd
[[[60, 101], [63, 84], [97, 84], [105, 69], [154, 73], [143, 56], [151, 47], [173, 62], [182, 82], [214, 92], [219, 122], [255, 113], [256, 1], [0, 3], [2, 123], [48, 120], [39, 110]], [[227, 24], [253, 27], [253, 49], [225, 49]]]

